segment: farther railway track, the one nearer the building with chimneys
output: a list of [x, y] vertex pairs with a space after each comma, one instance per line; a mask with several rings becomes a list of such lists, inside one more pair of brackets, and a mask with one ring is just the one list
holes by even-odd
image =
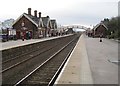
[[54, 47], [59, 45], [59, 42], [55, 45], [54, 42], [51, 42], [51, 45], [48, 43], [46, 46], [45, 44], [42, 45], [42, 47], [37, 47], [38, 49], [32, 50], [30, 52], [24, 53], [20, 56], [16, 56], [14, 58], [8, 59], [4, 62], [2, 62], [2, 71], [5, 72], [13, 67], [16, 67], [17, 65], [20, 65], [24, 63], [25, 61], [28, 61], [36, 56], [38, 56], [41, 53], [44, 53]]

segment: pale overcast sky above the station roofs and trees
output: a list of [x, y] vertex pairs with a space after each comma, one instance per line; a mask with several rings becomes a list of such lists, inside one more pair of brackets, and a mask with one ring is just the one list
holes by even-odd
[[118, 15], [119, 0], [2, 0], [0, 21], [17, 19], [28, 8], [49, 15], [58, 24], [96, 25], [104, 18]]

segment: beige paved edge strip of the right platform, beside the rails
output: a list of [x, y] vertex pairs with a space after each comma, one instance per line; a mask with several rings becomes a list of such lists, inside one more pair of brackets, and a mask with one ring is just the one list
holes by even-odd
[[93, 84], [83, 35], [79, 38], [55, 84]]

